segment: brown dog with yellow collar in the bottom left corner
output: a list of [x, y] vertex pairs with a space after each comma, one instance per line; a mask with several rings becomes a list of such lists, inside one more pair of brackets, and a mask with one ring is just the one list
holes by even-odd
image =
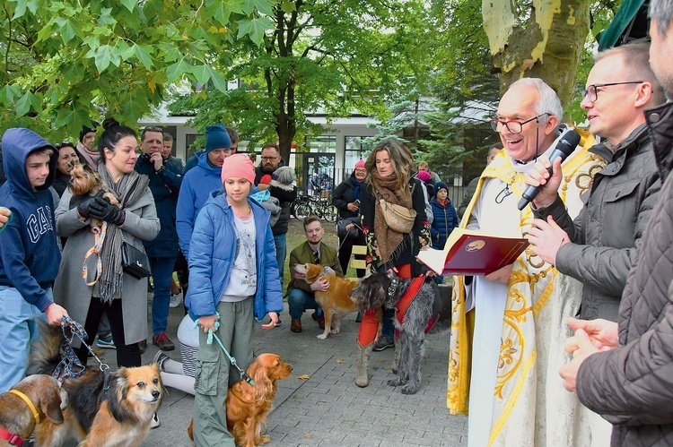
[[[17, 445], [20, 439], [10, 437], [14, 440], [10, 444], [5, 441], [7, 435], [25, 440], [46, 420], [63, 423], [59, 391], [60, 383], [55, 378], [38, 374], [26, 377], [11, 391], [0, 394], [0, 446]], [[31, 402], [32, 408], [26, 400]]]

